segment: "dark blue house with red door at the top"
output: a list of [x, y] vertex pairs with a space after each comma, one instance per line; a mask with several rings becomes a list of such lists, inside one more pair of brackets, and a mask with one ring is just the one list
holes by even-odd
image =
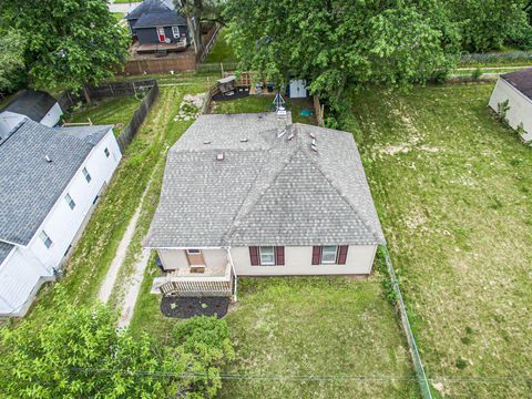
[[186, 18], [172, 1], [144, 0], [124, 18], [140, 44], [190, 44]]

